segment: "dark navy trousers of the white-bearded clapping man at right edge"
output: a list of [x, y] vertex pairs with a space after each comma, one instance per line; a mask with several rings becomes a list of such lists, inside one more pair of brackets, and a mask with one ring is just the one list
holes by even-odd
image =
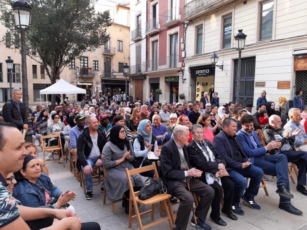
[[307, 152], [305, 151], [281, 151], [286, 155], [288, 162], [294, 163], [298, 168], [297, 184], [306, 185]]

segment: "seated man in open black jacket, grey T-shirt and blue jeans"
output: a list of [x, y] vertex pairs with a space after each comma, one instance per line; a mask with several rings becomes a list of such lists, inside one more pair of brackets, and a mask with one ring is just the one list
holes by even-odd
[[93, 197], [93, 167], [102, 166], [101, 153], [105, 144], [106, 135], [98, 129], [96, 117], [89, 117], [86, 120], [87, 128], [80, 134], [77, 141], [77, 168], [84, 173], [86, 186], [85, 198], [90, 200]]

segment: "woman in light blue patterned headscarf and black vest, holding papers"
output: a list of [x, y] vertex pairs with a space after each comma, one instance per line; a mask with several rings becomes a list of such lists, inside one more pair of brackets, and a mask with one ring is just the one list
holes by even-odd
[[[157, 138], [152, 134], [151, 122], [148, 119], [140, 121], [138, 125], [138, 135], [133, 140], [135, 159], [132, 162], [135, 168], [149, 165], [148, 153], [153, 152], [156, 157], [160, 156]], [[152, 172], [146, 172], [142, 176], [153, 177]]]

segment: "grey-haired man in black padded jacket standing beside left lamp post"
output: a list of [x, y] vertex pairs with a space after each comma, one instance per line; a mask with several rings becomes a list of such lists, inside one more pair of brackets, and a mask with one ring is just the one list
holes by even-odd
[[22, 98], [21, 89], [12, 90], [12, 98], [5, 102], [2, 109], [3, 119], [6, 122], [14, 123], [19, 130], [28, 129], [28, 114], [24, 105], [20, 102]]

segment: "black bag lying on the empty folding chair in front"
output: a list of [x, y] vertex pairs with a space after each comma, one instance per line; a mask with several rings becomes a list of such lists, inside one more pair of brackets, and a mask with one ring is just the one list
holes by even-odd
[[147, 178], [138, 193], [138, 198], [141, 200], [146, 200], [159, 193], [167, 193], [166, 187], [163, 185], [161, 178]]

